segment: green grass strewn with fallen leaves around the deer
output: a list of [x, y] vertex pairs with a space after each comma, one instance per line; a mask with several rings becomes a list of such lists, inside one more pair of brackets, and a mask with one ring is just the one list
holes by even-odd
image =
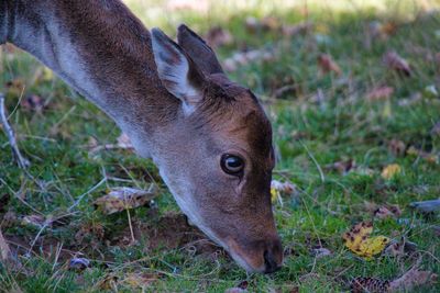
[[[440, 166], [420, 156], [396, 155], [389, 148], [389, 142], [398, 139], [439, 157], [440, 136], [431, 128], [440, 121], [440, 99], [427, 90], [429, 86], [440, 89], [440, 65], [430, 59], [440, 52], [440, 14], [427, 12], [439, 2], [267, 2], [218, 3], [209, 12], [169, 12], [162, 2], [131, 0], [128, 4], [147, 26], [164, 27], [169, 34], [180, 22], [198, 32], [206, 32], [210, 25], [229, 30], [234, 42], [218, 49], [222, 59], [240, 47], [279, 48], [274, 60], [242, 66], [230, 76], [261, 97], [272, 119], [279, 154], [275, 179], [290, 180], [298, 187], [297, 194], [285, 195], [284, 204], [274, 206], [286, 247], [284, 268], [273, 275], [246, 275], [221, 251], [206, 252], [206, 247], [186, 238], [174, 239], [169, 230], [179, 230], [183, 224], [153, 164], [124, 150], [90, 156], [86, 147], [90, 137], [100, 145], [114, 143], [120, 135], [117, 126], [30, 55], [3, 48], [0, 91], [8, 95], [10, 121], [21, 149], [32, 161], [34, 180], [15, 167], [0, 132], [0, 196], [11, 198], [0, 206], [0, 225], [12, 247], [29, 247], [34, 239], [36, 245], [32, 253], [20, 258], [24, 264], [20, 273], [0, 264], [0, 291], [221, 292], [243, 280], [251, 292], [346, 291], [353, 278], [391, 280], [415, 262], [408, 256], [365, 261], [343, 246], [344, 232], [360, 221], [372, 219], [372, 205], [386, 204], [398, 205], [402, 215], [376, 218], [374, 234], [393, 239], [405, 236], [417, 244], [422, 268], [440, 273], [439, 235], [433, 229], [440, 225], [439, 215], [426, 216], [409, 209], [413, 201], [439, 198]], [[250, 34], [243, 25], [249, 15], [272, 15], [288, 24], [307, 19], [315, 29], [293, 38], [274, 32]], [[365, 27], [374, 21], [395, 23], [397, 31], [369, 47]], [[387, 50], [396, 50], [410, 63], [411, 77], [383, 65]], [[341, 76], [319, 75], [317, 57], [322, 53], [333, 57]], [[271, 98], [275, 89], [292, 81], [294, 93]], [[394, 88], [389, 98], [366, 99], [373, 88], [385, 84]], [[30, 95], [42, 97], [46, 106], [38, 112], [20, 105], [19, 101]], [[346, 174], [326, 168], [348, 159], [356, 167]], [[384, 180], [381, 171], [389, 164], [398, 164], [403, 171]], [[66, 214], [78, 196], [102, 180], [103, 173], [110, 179], [85, 196], [64, 224], [41, 230], [23, 222], [35, 211], [46, 217]], [[105, 216], [91, 203], [111, 187], [147, 188], [151, 182], [162, 187], [155, 206], [130, 211], [135, 229], [150, 233], [140, 235], [138, 245], [124, 245], [124, 237], [130, 235], [128, 214]], [[316, 258], [312, 248], [319, 246], [332, 255]], [[195, 253], [195, 248], [205, 252]], [[81, 272], [67, 270], [72, 251], [82, 252], [91, 267]], [[438, 292], [440, 284], [417, 290]]]

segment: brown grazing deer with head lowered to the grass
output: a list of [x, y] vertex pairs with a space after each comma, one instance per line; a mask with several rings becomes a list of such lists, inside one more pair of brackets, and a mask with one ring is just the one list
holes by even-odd
[[240, 267], [282, 267], [271, 122], [199, 35], [185, 24], [176, 42], [148, 31], [119, 0], [1, 0], [7, 42], [112, 119], [188, 219]]

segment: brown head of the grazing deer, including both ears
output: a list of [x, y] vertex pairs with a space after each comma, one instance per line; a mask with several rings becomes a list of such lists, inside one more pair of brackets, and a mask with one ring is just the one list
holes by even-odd
[[158, 77], [179, 108], [150, 153], [194, 224], [248, 271], [273, 272], [283, 249], [270, 195], [271, 123], [197, 34], [180, 25], [177, 38], [152, 31]]

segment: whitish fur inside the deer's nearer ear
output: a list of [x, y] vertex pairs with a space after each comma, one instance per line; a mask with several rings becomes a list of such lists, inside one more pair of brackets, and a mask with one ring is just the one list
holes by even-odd
[[163, 44], [164, 41], [156, 40], [156, 37], [153, 37], [152, 41], [154, 59], [163, 84], [182, 101], [184, 113], [191, 114], [201, 99], [201, 93], [188, 80], [188, 59], [173, 44]]

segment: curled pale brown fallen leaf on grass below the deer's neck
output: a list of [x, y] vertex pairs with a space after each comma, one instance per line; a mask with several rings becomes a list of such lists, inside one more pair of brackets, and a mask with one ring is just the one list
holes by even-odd
[[112, 188], [110, 192], [99, 198], [94, 204], [107, 215], [122, 212], [128, 209], [142, 206], [156, 196], [154, 191], [133, 188]]

